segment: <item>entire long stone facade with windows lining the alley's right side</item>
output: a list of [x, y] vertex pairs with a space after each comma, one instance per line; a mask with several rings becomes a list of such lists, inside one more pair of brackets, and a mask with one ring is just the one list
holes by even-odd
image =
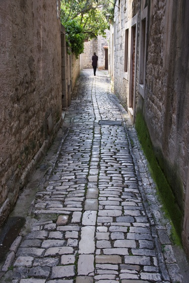
[[114, 12], [109, 43], [113, 90], [132, 122], [140, 119], [146, 125], [189, 255], [189, 3], [120, 0]]

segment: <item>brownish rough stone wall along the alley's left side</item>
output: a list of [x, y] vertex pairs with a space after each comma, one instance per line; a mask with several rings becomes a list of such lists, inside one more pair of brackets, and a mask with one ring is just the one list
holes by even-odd
[[1, 225], [62, 120], [59, 7], [1, 2]]

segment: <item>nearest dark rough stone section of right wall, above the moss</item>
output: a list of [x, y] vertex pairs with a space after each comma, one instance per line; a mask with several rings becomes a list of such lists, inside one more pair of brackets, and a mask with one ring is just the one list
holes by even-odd
[[[145, 119], [152, 142], [180, 206], [184, 209], [189, 145], [189, 3], [151, 5], [146, 63]], [[171, 15], [171, 17], [168, 17]]]

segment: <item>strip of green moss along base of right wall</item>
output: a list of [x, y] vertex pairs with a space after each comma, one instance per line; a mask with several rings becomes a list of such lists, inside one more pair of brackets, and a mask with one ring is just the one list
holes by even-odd
[[150, 173], [154, 182], [156, 183], [161, 201], [163, 203], [163, 209], [166, 215], [171, 219], [173, 227], [175, 229], [175, 232], [174, 229], [172, 229], [172, 240], [174, 240], [174, 242], [176, 243], [181, 243], [183, 214], [178, 206], [175, 195], [173, 194], [173, 190], [168, 183], [161, 167], [159, 166], [159, 162], [157, 161], [157, 156], [155, 155], [146, 123], [144, 121], [142, 113], [140, 112], [136, 114], [135, 127], [143, 152], [149, 163]]

